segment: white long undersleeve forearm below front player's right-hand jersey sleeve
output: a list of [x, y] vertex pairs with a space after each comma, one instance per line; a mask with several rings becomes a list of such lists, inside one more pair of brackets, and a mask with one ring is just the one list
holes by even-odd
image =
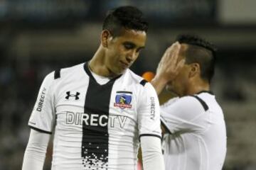
[[141, 137], [144, 170], [164, 170], [164, 157], [161, 153], [161, 140], [158, 137]]

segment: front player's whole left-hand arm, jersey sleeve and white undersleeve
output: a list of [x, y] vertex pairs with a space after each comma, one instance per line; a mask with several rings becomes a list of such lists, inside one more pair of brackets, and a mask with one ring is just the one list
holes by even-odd
[[31, 134], [24, 154], [23, 170], [43, 169], [46, 148], [55, 123], [53, 81], [56, 75], [55, 72], [48, 74], [38, 92], [36, 104], [28, 121]]

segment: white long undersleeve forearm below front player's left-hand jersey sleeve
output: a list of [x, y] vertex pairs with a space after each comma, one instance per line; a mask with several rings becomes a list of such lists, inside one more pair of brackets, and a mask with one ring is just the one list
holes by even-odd
[[23, 158], [22, 170], [42, 170], [50, 135], [31, 130]]

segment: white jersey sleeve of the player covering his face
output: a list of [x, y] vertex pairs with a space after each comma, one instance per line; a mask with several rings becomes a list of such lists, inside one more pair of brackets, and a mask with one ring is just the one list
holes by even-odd
[[161, 124], [170, 133], [205, 130], [206, 116], [203, 106], [193, 96], [182, 97], [168, 106], [161, 106]]

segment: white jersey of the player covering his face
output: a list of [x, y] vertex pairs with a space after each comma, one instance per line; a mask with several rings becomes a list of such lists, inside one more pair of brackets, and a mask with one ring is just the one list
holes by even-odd
[[206, 91], [161, 106], [166, 170], [220, 170], [226, 154], [223, 111]]

